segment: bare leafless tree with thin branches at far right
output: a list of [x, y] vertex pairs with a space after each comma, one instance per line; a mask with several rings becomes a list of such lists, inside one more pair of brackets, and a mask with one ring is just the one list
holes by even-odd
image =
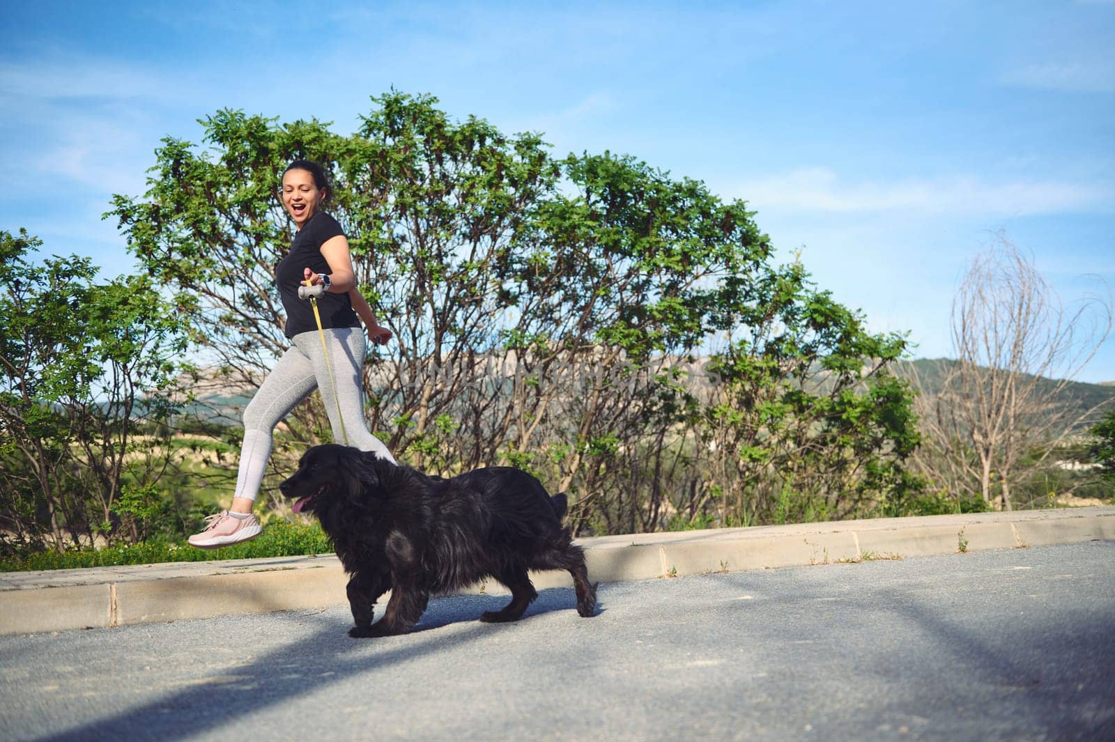
[[953, 297], [956, 361], [931, 369], [932, 384], [915, 380], [923, 471], [957, 496], [979, 491], [989, 506], [1009, 510], [1012, 487], [1103, 406], [1075, 404], [1068, 392], [1111, 329], [1109, 295], [1066, 306], [1032, 261], [998, 234]]

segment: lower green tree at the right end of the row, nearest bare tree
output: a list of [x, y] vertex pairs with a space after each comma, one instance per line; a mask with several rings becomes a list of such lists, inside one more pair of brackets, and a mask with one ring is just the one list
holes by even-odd
[[741, 289], [725, 297], [739, 330], [714, 358], [718, 383], [701, 436], [712, 451], [734, 453], [710, 461], [710, 473], [729, 484], [708, 488], [721, 496], [723, 517], [892, 511], [920, 488], [904, 468], [919, 442], [912, 394], [891, 371], [904, 339], [866, 332], [863, 318], [817, 291], [797, 262]]

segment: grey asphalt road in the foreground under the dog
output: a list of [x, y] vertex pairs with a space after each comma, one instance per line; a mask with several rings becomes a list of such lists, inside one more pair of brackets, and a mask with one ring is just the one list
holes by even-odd
[[1113, 740], [1115, 541], [0, 638], [0, 739]]

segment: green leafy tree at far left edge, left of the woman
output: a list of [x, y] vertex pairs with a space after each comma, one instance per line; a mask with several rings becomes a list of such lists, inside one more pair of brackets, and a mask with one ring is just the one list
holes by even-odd
[[49, 533], [61, 549], [119, 535], [123, 488], [152, 486], [165, 469], [165, 456], [151, 456], [157, 441], [137, 432], [165, 430], [177, 409], [184, 344], [148, 279], [97, 283], [89, 258], [29, 260], [40, 245], [0, 232], [2, 516], [23, 544]]

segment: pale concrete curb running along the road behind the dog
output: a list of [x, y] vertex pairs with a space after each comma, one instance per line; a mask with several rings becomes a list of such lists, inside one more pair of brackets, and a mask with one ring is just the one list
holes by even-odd
[[[1115, 507], [881, 518], [581, 539], [602, 583], [1115, 540]], [[568, 574], [532, 575], [539, 589]], [[0, 573], [0, 635], [347, 605], [333, 555]], [[504, 593], [486, 582], [471, 593]], [[382, 602], [381, 602], [382, 603]]]

